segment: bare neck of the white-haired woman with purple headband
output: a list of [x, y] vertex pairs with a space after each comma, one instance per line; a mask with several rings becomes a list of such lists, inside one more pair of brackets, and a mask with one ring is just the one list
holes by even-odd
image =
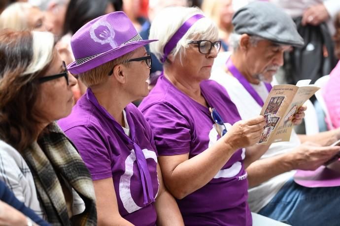
[[[191, 76], [186, 75], [182, 70], [178, 70], [176, 66], [164, 67], [165, 77], [180, 91], [188, 95], [193, 100], [201, 103], [201, 81], [189, 79]], [[183, 76], [185, 75], [185, 76]], [[204, 104], [205, 105], [205, 104]]]

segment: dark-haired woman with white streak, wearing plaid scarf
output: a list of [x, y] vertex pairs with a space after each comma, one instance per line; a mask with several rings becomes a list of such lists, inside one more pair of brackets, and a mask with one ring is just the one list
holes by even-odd
[[95, 225], [95, 193], [55, 120], [73, 106], [52, 33], [0, 31], [0, 180], [53, 225]]

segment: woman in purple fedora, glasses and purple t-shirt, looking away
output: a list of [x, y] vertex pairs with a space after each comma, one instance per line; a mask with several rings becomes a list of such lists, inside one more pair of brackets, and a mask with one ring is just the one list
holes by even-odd
[[153, 133], [132, 101], [148, 94], [151, 57], [123, 12], [98, 17], [71, 39], [72, 74], [88, 89], [59, 125], [94, 180], [98, 225], [183, 225], [163, 185]]

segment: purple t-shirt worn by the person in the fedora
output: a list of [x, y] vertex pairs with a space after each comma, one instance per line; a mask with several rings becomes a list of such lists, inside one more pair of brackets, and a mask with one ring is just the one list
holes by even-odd
[[77, 147], [93, 180], [112, 177], [120, 215], [134, 225], [151, 226], [157, 219], [154, 205], [159, 187], [156, 147], [151, 128], [139, 110], [129, 104], [125, 111], [131, 137], [136, 131], [133, 140], [142, 150], [151, 176], [154, 197], [148, 197], [146, 204], [134, 141], [100, 106], [90, 88], [77, 101], [72, 113], [58, 124]]

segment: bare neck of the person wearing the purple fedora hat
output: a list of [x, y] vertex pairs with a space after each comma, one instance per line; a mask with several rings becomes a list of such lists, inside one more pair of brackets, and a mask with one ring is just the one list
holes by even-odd
[[131, 103], [129, 97], [119, 85], [109, 85], [108, 82], [94, 85], [91, 90], [99, 104], [123, 127], [125, 127], [123, 110]]

